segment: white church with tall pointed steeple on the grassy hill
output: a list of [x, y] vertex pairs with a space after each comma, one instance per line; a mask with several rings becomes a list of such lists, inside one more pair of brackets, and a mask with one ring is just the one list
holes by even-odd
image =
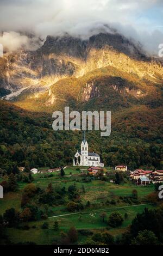
[[[80, 160], [79, 160], [80, 159]], [[77, 151], [74, 155], [73, 166], [99, 166], [104, 167], [104, 164], [100, 161], [100, 156], [96, 153], [90, 153], [88, 151], [88, 144], [84, 138], [81, 143], [81, 151]]]

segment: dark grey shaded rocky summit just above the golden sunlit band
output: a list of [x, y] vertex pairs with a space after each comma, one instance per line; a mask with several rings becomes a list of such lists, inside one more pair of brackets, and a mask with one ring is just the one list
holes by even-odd
[[138, 44], [135, 45], [133, 41], [116, 32], [99, 33], [90, 36], [87, 40], [76, 38], [69, 34], [64, 36], [48, 35], [45, 43], [38, 51], [43, 54], [66, 54], [66, 56], [85, 59], [92, 48], [98, 50], [106, 46], [131, 58], [147, 60]]

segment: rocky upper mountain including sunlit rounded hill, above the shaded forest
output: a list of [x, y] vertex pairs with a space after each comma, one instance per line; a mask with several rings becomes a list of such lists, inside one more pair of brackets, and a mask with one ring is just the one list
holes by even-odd
[[28, 108], [40, 102], [54, 106], [59, 99], [108, 102], [108, 93], [137, 100], [151, 92], [158, 95], [156, 84], [163, 83], [162, 64], [116, 33], [99, 33], [89, 40], [47, 36], [37, 51], [5, 54], [0, 62], [1, 96]]

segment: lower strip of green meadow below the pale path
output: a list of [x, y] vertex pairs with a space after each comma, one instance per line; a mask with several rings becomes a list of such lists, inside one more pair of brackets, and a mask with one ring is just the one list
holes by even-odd
[[[145, 207], [149, 209], [153, 209], [154, 205], [139, 205], [139, 206], [129, 206], [128, 208], [116, 209], [116, 211], [120, 212], [122, 216], [127, 212], [128, 218], [124, 220], [122, 226], [120, 228], [112, 228], [109, 229], [110, 234], [118, 235], [122, 234], [127, 226], [131, 223], [131, 220], [135, 217], [137, 212], [142, 212]], [[115, 209], [108, 209], [107, 218], [109, 217], [110, 213], [115, 211]], [[53, 229], [54, 221], [57, 220], [59, 222], [59, 230], [55, 231]], [[42, 229], [41, 226], [45, 221], [37, 221], [37, 222], [30, 222], [29, 230], [20, 230], [14, 228], [8, 228], [8, 235], [12, 242], [27, 242], [33, 241], [37, 243], [37, 245], [51, 245], [51, 243], [60, 236], [61, 231], [68, 231], [70, 227], [75, 226], [78, 230], [80, 229], [89, 229], [89, 230], [102, 230], [106, 228], [108, 225], [106, 221], [103, 223], [99, 216], [99, 212], [96, 212], [94, 216], [91, 216], [91, 211], [82, 215], [81, 220], [79, 221], [79, 215], [70, 215], [70, 216], [63, 216], [57, 218], [48, 218], [46, 222], [49, 223], [48, 229]], [[32, 228], [33, 225], [36, 228]], [[32, 234], [32, 235], [31, 235]], [[79, 244], [83, 244], [83, 242], [87, 239], [86, 236], [79, 235]]]

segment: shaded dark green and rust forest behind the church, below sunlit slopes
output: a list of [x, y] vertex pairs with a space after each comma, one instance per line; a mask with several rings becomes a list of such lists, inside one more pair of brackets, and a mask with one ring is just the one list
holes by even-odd
[[[80, 149], [81, 131], [53, 131], [50, 114], [25, 111], [3, 100], [0, 105], [1, 169], [11, 173], [14, 166], [52, 168], [72, 164], [74, 153]], [[121, 118], [116, 113], [109, 137], [101, 137], [97, 131], [86, 133], [89, 151], [98, 153], [105, 166], [161, 168], [161, 123], [156, 120], [160, 113], [158, 109], [152, 111], [141, 106], [134, 112], [121, 113]]]

